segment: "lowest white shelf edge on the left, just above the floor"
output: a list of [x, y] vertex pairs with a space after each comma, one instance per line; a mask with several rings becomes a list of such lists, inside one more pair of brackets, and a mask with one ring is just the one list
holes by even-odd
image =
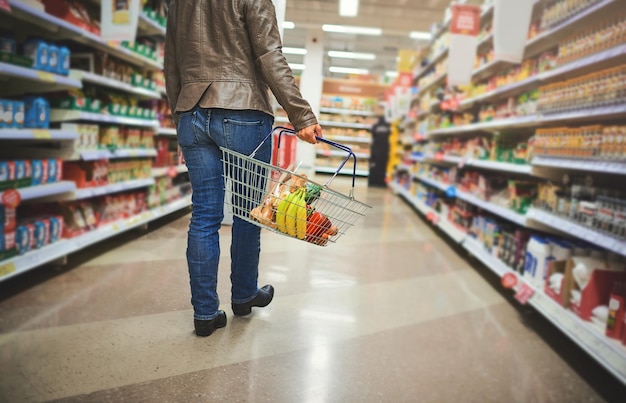
[[191, 205], [191, 197], [185, 196], [165, 206], [148, 210], [134, 217], [115, 221], [70, 239], [60, 239], [41, 249], [30, 251], [0, 262], [0, 281], [77, 252], [114, 235], [137, 228]]

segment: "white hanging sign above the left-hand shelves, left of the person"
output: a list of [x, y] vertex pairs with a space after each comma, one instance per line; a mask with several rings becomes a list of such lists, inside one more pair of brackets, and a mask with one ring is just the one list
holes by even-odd
[[139, 0], [102, 0], [100, 30], [105, 41], [135, 42], [139, 22]]

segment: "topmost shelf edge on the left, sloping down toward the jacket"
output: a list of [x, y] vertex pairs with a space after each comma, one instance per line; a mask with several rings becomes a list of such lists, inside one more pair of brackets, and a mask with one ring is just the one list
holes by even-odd
[[11, 5], [11, 15], [13, 17], [46, 29], [53, 33], [55, 37], [70, 39], [103, 50], [137, 67], [151, 70], [163, 69], [163, 65], [155, 60], [138, 55], [118, 44], [108, 43], [91, 32], [85, 31], [76, 25], [50, 15], [31, 5], [25, 4], [20, 0], [9, 0], [9, 4]]

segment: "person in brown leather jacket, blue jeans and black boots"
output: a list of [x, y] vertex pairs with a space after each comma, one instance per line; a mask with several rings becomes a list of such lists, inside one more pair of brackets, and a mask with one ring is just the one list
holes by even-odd
[[[198, 336], [226, 326], [217, 295], [225, 192], [220, 147], [250, 155], [262, 143], [274, 121], [269, 90], [300, 140], [316, 144], [322, 136], [281, 49], [271, 0], [168, 1], [165, 81], [193, 189], [186, 257]], [[271, 152], [266, 141], [255, 158], [269, 163]], [[257, 284], [260, 231], [234, 218], [231, 307], [238, 316], [274, 296], [271, 285]]]

